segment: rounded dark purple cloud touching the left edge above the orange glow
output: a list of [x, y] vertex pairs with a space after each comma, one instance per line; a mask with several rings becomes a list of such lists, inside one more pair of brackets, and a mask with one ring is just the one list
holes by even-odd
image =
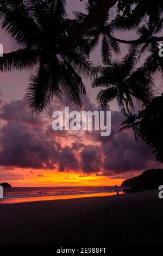
[[2, 129], [1, 166], [53, 169], [57, 148], [49, 143], [42, 127], [9, 121]]

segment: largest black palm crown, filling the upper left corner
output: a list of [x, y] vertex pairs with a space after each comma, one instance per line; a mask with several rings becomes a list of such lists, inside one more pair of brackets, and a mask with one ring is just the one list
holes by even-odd
[[66, 53], [60, 53], [67, 36], [80, 21], [67, 18], [65, 0], [1, 1], [2, 28], [21, 45], [17, 51], [0, 58], [0, 70], [34, 68], [27, 89], [31, 114], [39, 114], [54, 97], [64, 95], [74, 105], [82, 106], [80, 95], [86, 94], [80, 75], [91, 75], [90, 41], [80, 38]]

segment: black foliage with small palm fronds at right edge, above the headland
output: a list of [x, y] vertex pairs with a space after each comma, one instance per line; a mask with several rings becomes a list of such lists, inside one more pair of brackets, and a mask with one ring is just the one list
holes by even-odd
[[[147, 104], [145, 109], [137, 114], [124, 113], [126, 119], [122, 122], [120, 131], [132, 129], [135, 140], [140, 137], [156, 154], [156, 160], [163, 162], [163, 111], [161, 106], [163, 95], [154, 97], [151, 103]], [[156, 108], [155, 106], [158, 106]], [[160, 108], [159, 108], [160, 106]]]

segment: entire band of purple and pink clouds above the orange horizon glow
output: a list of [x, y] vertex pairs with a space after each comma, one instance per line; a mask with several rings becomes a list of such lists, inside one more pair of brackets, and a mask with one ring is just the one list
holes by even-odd
[[[51, 113], [53, 109], [51, 106]], [[101, 111], [101, 107], [91, 104], [89, 97], [83, 109]], [[117, 132], [124, 119], [118, 111], [111, 112], [109, 137], [101, 137], [100, 131], [79, 131], [74, 135], [53, 131], [49, 112], [48, 121], [42, 117], [32, 119], [25, 99], [3, 104], [1, 119], [8, 122], [3, 125], [0, 136], [0, 166], [3, 167], [57, 168], [60, 172], [116, 176], [150, 168], [151, 163], [152, 167], [159, 166], [152, 150], [141, 140], [136, 143], [131, 131]], [[72, 143], [66, 145], [70, 138]]]

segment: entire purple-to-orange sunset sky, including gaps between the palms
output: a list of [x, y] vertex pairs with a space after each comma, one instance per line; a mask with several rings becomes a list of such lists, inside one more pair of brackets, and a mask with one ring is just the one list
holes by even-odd
[[[67, 12], [84, 11], [84, 3], [69, 0]], [[118, 36], [122, 34], [118, 33]], [[131, 34], [126, 35], [131, 39]], [[1, 31], [4, 52], [19, 46]], [[126, 48], [122, 47], [122, 56]], [[122, 58], [120, 56], [120, 58]], [[99, 48], [91, 54], [94, 64], [100, 63]], [[136, 143], [131, 131], [117, 133], [124, 119], [113, 102], [111, 136], [101, 137], [98, 131], [53, 131], [52, 113], [69, 106], [67, 101], [54, 101], [37, 118], [27, 112], [26, 88], [33, 70], [1, 73], [0, 76], [0, 183], [12, 186], [114, 186], [149, 168], [159, 168], [152, 150], [140, 139]], [[96, 103], [98, 90], [85, 81], [87, 95], [84, 111], [101, 111]], [[155, 75], [156, 86], [162, 83]], [[70, 106], [70, 109], [74, 109]]]

